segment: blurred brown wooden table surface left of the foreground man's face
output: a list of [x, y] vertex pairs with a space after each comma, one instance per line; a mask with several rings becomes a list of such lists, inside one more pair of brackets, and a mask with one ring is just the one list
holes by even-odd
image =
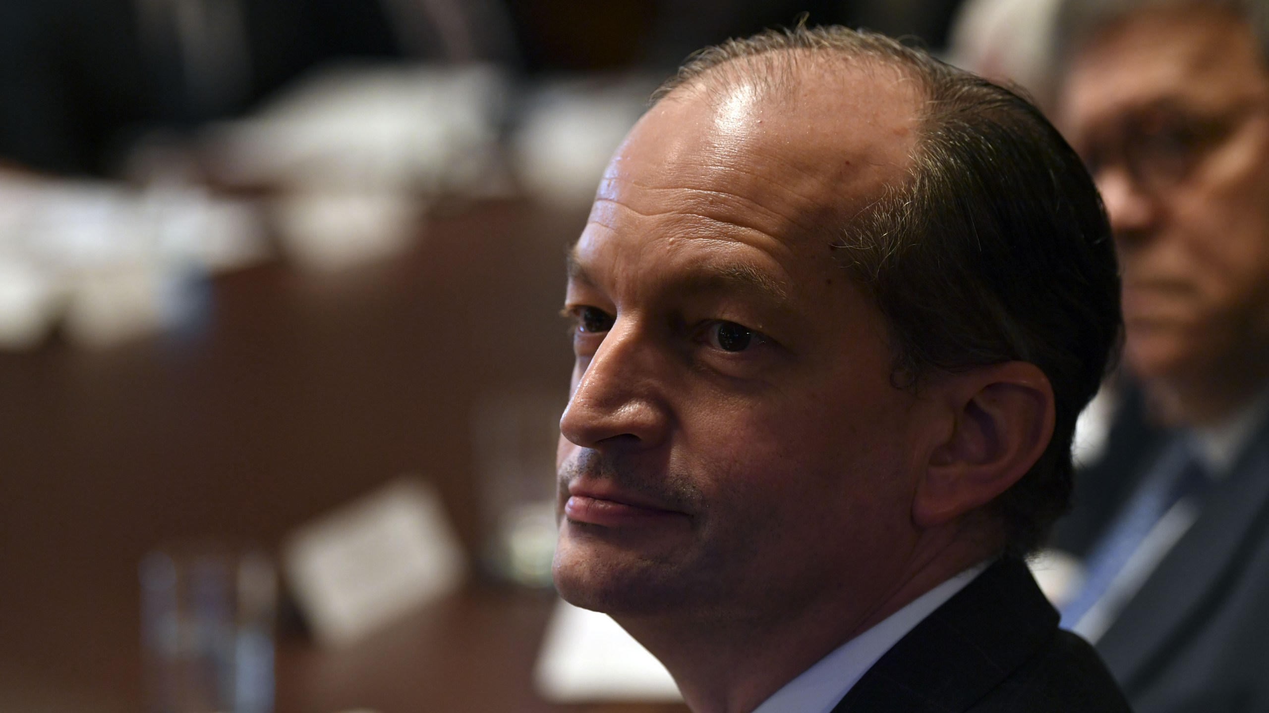
[[[165, 540], [277, 546], [416, 472], [475, 548], [470, 411], [504, 389], [566, 388], [556, 312], [581, 223], [473, 206], [388, 263], [220, 277], [198, 330], [0, 354], [0, 709], [141, 710], [136, 566]], [[569, 710], [532, 689], [549, 609], [541, 592], [473, 585], [348, 650], [283, 638], [278, 713]]]

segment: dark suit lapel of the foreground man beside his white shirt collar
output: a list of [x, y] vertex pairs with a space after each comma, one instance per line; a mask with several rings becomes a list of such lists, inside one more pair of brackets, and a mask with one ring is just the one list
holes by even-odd
[[832, 713], [964, 710], [1056, 631], [1027, 565], [1003, 559], [900, 639]]

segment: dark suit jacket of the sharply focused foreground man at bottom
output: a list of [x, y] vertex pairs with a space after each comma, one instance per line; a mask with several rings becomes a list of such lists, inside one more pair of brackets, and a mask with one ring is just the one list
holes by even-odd
[[832, 713], [1128, 713], [1101, 660], [1004, 559], [900, 639]]

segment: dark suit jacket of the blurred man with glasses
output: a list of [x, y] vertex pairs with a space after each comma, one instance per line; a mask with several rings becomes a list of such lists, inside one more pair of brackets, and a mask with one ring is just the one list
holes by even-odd
[[1098, 651], [1138, 713], [1269, 712], [1269, 422], [1199, 506]]

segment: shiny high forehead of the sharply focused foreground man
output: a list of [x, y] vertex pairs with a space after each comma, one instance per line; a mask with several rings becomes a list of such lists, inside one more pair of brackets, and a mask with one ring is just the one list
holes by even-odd
[[613, 241], [666, 259], [826, 252], [830, 240], [812, 236], [827, 239], [905, 175], [920, 99], [897, 70], [802, 60], [779, 85], [732, 67], [657, 103], [610, 162], [579, 258]]

